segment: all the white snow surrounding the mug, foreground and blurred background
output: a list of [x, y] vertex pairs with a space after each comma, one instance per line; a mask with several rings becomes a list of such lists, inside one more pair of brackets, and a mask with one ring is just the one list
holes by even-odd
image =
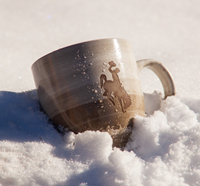
[[[0, 185], [200, 185], [198, 0], [0, 0]], [[124, 151], [107, 133], [57, 131], [40, 109], [32, 63], [58, 48], [125, 38], [161, 61], [177, 95], [142, 70], [146, 117]]]

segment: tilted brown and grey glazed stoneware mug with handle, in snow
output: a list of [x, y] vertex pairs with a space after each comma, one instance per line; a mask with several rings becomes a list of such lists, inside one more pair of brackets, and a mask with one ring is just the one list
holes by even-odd
[[43, 110], [55, 125], [74, 133], [107, 131], [113, 146], [123, 147], [127, 125], [145, 115], [139, 79], [143, 67], [162, 82], [164, 96], [175, 94], [168, 70], [155, 60], [137, 61], [124, 39], [99, 39], [71, 45], [32, 65]]

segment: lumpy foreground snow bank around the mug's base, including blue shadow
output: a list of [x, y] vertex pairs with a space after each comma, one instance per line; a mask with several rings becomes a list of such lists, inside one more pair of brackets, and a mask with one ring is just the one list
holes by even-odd
[[145, 102], [121, 151], [108, 133], [56, 131], [35, 90], [1, 91], [0, 185], [199, 185], [200, 100], [154, 92]]

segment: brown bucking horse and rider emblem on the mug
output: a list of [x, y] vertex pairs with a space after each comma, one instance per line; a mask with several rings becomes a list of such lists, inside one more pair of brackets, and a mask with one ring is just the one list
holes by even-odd
[[110, 61], [108, 63], [110, 67], [108, 68], [109, 72], [112, 74], [113, 81], [107, 80], [105, 74], [101, 74], [100, 76], [100, 86], [105, 90], [103, 96], [107, 97], [107, 99], [116, 106], [116, 99], [119, 101], [122, 112], [126, 112], [126, 109], [131, 105], [131, 98], [125, 91], [124, 87], [119, 80], [118, 73], [120, 72], [119, 68], [113, 67], [116, 66], [114, 61]]

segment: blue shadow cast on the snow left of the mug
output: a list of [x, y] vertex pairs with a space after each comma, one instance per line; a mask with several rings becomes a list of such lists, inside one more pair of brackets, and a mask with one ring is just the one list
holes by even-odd
[[36, 90], [0, 91], [0, 113], [0, 140], [42, 141], [52, 145], [62, 140], [42, 111]]

